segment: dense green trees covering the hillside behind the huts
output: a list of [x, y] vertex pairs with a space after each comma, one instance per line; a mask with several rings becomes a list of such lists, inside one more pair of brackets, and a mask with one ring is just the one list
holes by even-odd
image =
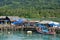
[[60, 17], [60, 0], [0, 0], [0, 16]]

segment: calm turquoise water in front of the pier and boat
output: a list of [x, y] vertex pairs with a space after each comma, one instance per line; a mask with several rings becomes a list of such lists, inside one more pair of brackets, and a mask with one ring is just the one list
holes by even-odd
[[26, 34], [25, 32], [0, 32], [0, 40], [60, 40], [58, 35]]

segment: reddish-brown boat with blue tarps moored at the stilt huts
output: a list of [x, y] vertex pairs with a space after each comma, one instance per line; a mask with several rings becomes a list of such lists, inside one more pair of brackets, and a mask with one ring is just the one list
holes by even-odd
[[36, 30], [40, 34], [56, 34], [55, 29], [53, 27], [48, 27], [47, 24], [39, 23]]

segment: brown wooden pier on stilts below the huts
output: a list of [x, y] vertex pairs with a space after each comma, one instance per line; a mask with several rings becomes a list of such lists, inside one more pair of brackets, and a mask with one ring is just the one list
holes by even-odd
[[36, 27], [0, 24], [0, 31], [36, 31]]

